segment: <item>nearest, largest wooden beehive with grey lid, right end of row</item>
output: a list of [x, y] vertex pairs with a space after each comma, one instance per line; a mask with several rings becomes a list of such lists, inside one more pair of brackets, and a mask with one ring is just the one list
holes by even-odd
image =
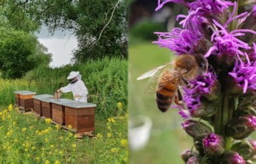
[[71, 102], [64, 103], [65, 125], [72, 126], [77, 133], [91, 132], [95, 130], [95, 107], [96, 104]]

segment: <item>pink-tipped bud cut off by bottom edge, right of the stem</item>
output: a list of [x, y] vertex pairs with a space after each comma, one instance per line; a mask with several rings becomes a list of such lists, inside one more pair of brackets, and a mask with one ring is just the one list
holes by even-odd
[[245, 164], [244, 158], [236, 152], [224, 152], [221, 163], [225, 164]]

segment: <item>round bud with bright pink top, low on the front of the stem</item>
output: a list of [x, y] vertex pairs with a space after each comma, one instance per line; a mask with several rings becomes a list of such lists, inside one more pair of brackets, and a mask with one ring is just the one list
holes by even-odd
[[203, 142], [203, 149], [205, 154], [214, 156], [214, 155], [221, 155], [224, 152], [224, 140], [223, 137], [211, 133], [202, 140]]

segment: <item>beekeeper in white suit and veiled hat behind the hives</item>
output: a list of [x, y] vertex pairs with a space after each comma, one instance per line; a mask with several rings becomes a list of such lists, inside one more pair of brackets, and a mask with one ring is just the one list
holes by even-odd
[[61, 87], [57, 92], [73, 92], [74, 100], [78, 102], [87, 102], [88, 90], [85, 83], [81, 80], [79, 72], [70, 72], [67, 79], [70, 83], [66, 87]]

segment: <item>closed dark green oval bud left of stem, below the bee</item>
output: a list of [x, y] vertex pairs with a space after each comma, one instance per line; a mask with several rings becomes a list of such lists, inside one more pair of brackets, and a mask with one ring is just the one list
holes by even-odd
[[192, 136], [192, 138], [196, 138], [198, 136], [205, 136], [209, 133], [212, 133], [211, 128], [200, 121], [187, 119], [181, 125], [186, 133]]

